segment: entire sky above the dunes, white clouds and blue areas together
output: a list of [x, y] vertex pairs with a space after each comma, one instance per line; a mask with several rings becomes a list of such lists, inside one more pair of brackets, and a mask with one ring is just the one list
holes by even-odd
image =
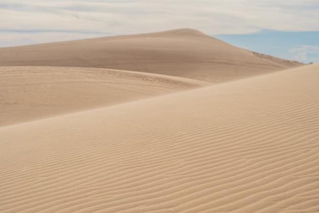
[[319, 62], [319, 0], [0, 0], [0, 46], [176, 28]]

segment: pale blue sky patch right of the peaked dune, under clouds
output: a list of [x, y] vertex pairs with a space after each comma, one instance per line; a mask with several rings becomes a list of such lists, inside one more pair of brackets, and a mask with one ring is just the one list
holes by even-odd
[[319, 62], [319, 31], [262, 30], [241, 35], [213, 35], [241, 48], [304, 63]]

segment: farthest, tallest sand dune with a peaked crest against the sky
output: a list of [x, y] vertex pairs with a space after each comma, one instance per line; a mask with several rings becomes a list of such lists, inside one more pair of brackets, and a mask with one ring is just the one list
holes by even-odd
[[0, 49], [0, 66], [20, 65], [102, 67], [219, 83], [301, 64], [180, 29]]

